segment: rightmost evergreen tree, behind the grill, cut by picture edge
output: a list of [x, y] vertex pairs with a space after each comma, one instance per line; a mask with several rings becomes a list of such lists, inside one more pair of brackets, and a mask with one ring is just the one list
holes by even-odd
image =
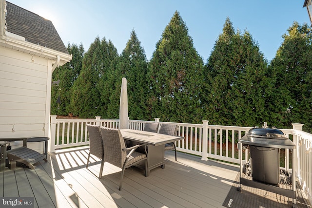
[[287, 32], [268, 71], [273, 86], [268, 107], [276, 127], [303, 123], [303, 129], [311, 132], [312, 30], [294, 22]]

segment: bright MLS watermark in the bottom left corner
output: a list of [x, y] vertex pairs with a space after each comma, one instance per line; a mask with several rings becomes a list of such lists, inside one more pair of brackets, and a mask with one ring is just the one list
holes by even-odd
[[0, 197], [0, 208], [34, 208], [34, 197]]

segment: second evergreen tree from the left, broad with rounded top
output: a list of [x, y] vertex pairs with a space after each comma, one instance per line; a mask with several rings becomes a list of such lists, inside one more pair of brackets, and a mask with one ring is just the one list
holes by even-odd
[[111, 60], [117, 57], [117, 49], [111, 41], [97, 37], [82, 60], [82, 70], [73, 86], [71, 105], [73, 114], [80, 118], [94, 118], [101, 115], [107, 103], [101, 101], [101, 92], [108, 91], [100, 80], [106, 80]]

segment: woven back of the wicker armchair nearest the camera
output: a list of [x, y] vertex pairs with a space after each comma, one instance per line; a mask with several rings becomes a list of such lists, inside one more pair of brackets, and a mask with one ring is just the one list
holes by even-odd
[[126, 148], [126, 145], [120, 130], [101, 127], [100, 131], [104, 144], [105, 162], [122, 168], [127, 157], [127, 152], [122, 151], [122, 149]]

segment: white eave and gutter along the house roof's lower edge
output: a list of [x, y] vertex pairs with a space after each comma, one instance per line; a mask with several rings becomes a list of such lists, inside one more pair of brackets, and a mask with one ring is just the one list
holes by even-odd
[[64, 65], [72, 59], [72, 55], [27, 42], [23, 37], [8, 32], [5, 32], [5, 35], [1, 36], [0, 46], [11, 50], [20, 51], [31, 56], [42, 57], [55, 61], [58, 60], [59, 56], [59, 66]]

